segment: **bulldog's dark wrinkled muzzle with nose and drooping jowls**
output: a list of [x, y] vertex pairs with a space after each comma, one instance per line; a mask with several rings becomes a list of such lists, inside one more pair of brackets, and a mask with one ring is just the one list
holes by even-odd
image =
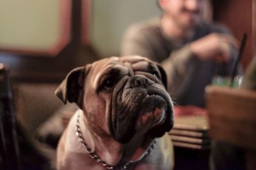
[[172, 128], [172, 117], [172, 101], [163, 85], [144, 75], [123, 78], [116, 85], [109, 129], [117, 141], [127, 143], [138, 131], [163, 136]]

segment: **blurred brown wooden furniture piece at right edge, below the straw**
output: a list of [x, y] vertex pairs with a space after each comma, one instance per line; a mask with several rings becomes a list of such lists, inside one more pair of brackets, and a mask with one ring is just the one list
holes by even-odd
[[256, 169], [256, 92], [211, 85], [205, 99], [211, 138], [243, 148], [246, 169]]

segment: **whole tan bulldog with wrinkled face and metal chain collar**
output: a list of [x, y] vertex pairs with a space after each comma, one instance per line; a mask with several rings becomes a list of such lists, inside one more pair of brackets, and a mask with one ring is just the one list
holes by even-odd
[[110, 57], [68, 73], [56, 90], [78, 110], [57, 148], [57, 169], [172, 169], [173, 103], [159, 64]]

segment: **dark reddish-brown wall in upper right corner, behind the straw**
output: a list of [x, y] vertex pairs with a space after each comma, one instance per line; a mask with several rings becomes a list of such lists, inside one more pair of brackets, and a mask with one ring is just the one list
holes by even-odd
[[[254, 3], [253, 3], [254, 1]], [[214, 20], [228, 25], [234, 36], [241, 41], [244, 32], [248, 34], [246, 48], [242, 58], [244, 69], [255, 55], [255, 0], [214, 0]], [[254, 6], [254, 7], [253, 7]], [[254, 10], [254, 11], [253, 11]]]

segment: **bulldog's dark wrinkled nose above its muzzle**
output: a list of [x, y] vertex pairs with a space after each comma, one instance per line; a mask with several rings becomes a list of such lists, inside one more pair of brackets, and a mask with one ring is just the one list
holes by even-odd
[[134, 75], [131, 77], [131, 87], [144, 87], [145, 88], [152, 84], [154, 84], [154, 81], [149, 80], [146, 76]]

